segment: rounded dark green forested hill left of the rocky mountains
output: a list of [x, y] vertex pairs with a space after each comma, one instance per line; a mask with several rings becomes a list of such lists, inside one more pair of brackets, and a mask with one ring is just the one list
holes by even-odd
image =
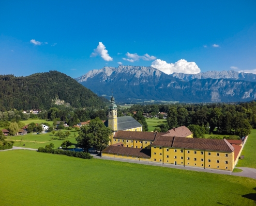
[[[0, 75], [0, 111], [49, 109], [53, 99], [64, 100], [74, 108], [104, 108], [107, 99], [98, 97], [71, 77], [57, 72], [27, 77]], [[105, 101], [105, 102], [104, 102]]]

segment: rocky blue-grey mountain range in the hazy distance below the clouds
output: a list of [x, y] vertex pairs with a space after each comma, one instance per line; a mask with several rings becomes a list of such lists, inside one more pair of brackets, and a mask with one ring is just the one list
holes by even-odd
[[234, 102], [256, 98], [256, 75], [235, 71], [167, 75], [154, 67], [105, 66], [75, 78], [98, 95], [118, 102]]

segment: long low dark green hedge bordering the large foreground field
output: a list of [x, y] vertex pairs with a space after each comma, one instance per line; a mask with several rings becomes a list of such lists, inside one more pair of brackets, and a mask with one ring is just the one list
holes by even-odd
[[93, 156], [91, 156], [89, 153], [82, 152], [82, 151], [70, 151], [70, 150], [62, 150], [62, 149], [46, 149], [43, 147], [39, 147], [38, 152], [51, 153], [51, 154], [55, 154], [55, 155], [66, 155], [66, 156], [82, 158], [82, 159], [92, 159], [93, 158]]

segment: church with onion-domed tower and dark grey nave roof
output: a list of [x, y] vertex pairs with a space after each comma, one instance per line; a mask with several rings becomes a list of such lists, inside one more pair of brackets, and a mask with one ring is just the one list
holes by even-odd
[[121, 116], [117, 117], [117, 106], [115, 104], [115, 98], [111, 97], [111, 102], [109, 105], [109, 117], [106, 122], [104, 122], [106, 127], [110, 127], [112, 134], [110, 136], [110, 145], [115, 144], [113, 137], [117, 131], [142, 131], [142, 125], [136, 121], [131, 116]]

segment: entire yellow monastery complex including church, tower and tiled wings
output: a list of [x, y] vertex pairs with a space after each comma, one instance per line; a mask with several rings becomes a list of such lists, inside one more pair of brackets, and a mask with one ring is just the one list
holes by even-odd
[[167, 132], [143, 132], [133, 117], [117, 117], [113, 96], [105, 125], [112, 134], [101, 157], [232, 171], [243, 149], [242, 141], [193, 138], [185, 126]]

